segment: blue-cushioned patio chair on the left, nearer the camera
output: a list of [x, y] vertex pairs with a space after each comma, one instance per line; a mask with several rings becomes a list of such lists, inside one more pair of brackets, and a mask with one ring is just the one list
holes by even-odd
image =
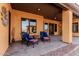
[[26, 41], [27, 43], [27, 46], [29, 46], [29, 43], [32, 43], [33, 44], [33, 48], [34, 48], [34, 44], [38, 44], [38, 40], [37, 39], [33, 39], [29, 36], [28, 33], [24, 32], [22, 33], [22, 42], [23, 41]]

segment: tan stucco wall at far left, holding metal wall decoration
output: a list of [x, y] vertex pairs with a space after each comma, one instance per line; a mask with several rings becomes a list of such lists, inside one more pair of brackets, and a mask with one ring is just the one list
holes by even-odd
[[[1, 11], [2, 7], [5, 7], [7, 11], [9, 11], [11, 9], [10, 4], [0, 4], [0, 11]], [[2, 15], [0, 13], [0, 55], [3, 55], [8, 48], [9, 25], [4, 26], [2, 24], [1, 18], [2, 18]]]

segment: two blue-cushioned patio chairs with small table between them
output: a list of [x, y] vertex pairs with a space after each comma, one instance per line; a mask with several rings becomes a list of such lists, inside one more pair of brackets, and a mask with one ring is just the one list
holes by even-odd
[[40, 32], [40, 38], [37, 38], [37, 35], [32, 35], [30, 36], [27, 32], [22, 33], [22, 43], [26, 43], [27, 46], [31, 43], [33, 45], [38, 44], [39, 39], [44, 42], [44, 41], [49, 41], [50, 42], [50, 37], [48, 36], [47, 32]]

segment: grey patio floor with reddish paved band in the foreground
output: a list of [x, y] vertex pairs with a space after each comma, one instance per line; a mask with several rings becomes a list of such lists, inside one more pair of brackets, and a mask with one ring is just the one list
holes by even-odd
[[[61, 36], [51, 36], [51, 42], [39, 42], [33, 48], [16, 42], [12, 44], [4, 56], [62, 56], [71, 55], [79, 46], [79, 37], [73, 37], [72, 44], [61, 42]], [[77, 41], [78, 40], [78, 41]], [[76, 42], [77, 41], [77, 42]], [[56, 52], [57, 51], [57, 52]], [[63, 53], [62, 53], [63, 52]], [[70, 53], [71, 52], [71, 53]]]

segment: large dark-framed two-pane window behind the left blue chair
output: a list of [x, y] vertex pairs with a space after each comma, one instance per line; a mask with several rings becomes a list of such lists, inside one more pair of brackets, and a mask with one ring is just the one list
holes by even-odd
[[36, 33], [36, 20], [22, 18], [22, 32]]

